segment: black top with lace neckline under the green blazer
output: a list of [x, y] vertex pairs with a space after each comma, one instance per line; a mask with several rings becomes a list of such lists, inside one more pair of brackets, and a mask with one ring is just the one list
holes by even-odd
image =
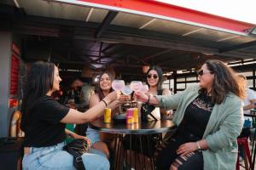
[[195, 138], [201, 139], [212, 113], [214, 104], [212, 104], [211, 97], [205, 94], [200, 94], [187, 107], [184, 117], [184, 129], [194, 134]]

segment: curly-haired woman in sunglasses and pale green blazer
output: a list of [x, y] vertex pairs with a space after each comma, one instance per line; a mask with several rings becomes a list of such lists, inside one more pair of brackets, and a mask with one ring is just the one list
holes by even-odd
[[182, 93], [137, 99], [166, 110], [176, 109], [177, 132], [157, 157], [157, 169], [236, 169], [237, 143], [243, 125], [237, 77], [219, 60], [201, 66], [199, 84]]

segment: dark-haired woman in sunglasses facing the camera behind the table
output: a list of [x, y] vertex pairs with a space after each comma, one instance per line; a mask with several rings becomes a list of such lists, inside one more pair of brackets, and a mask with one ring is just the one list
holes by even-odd
[[[159, 66], [151, 66], [147, 72], [148, 95], [170, 95], [171, 91], [167, 88], [162, 88], [164, 82], [163, 71]], [[171, 116], [172, 111], [166, 111], [156, 107], [152, 114], [156, 118]]]

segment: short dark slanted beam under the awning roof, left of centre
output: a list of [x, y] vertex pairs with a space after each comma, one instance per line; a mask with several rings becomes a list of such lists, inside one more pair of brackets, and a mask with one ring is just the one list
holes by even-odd
[[116, 11], [109, 11], [108, 14], [106, 15], [106, 17], [104, 18], [104, 20], [102, 21], [101, 26], [98, 28], [98, 30], [96, 31], [96, 35], [95, 37], [101, 37], [103, 31], [108, 29], [108, 26], [110, 25], [110, 23], [112, 22], [112, 20], [115, 18], [115, 16], [118, 14], [118, 12]]

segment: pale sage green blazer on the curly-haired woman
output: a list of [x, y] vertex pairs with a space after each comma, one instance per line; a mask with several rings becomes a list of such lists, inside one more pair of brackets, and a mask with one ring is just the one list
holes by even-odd
[[[182, 122], [188, 105], [199, 95], [199, 85], [193, 85], [181, 93], [155, 96], [160, 107], [167, 110], [177, 109], [173, 122], [177, 126]], [[203, 139], [208, 150], [203, 151], [205, 170], [236, 169], [237, 142], [244, 122], [241, 99], [235, 94], [228, 94], [224, 102], [214, 105]]]

